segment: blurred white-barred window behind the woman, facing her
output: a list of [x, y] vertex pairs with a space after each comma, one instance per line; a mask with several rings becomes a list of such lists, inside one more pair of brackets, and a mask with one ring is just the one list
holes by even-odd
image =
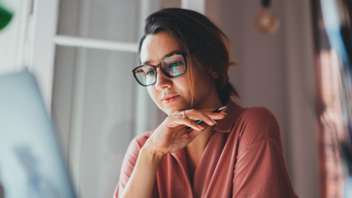
[[113, 195], [130, 141], [164, 114], [130, 72], [142, 22], [159, 8], [156, 0], [59, 2], [52, 116], [82, 198]]

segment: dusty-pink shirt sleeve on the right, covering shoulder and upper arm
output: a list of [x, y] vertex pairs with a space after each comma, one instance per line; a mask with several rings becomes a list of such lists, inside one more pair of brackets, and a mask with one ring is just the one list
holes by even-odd
[[276, 117], [263, 107], [249, 114], [236, 156], [233, 198], [297, 198]]

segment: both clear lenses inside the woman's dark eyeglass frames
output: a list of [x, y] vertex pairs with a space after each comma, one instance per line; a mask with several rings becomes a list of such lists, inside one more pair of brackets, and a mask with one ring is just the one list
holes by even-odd
[[[161, 69], [169, 74], [170, 77], [176, 77], [183, 74], [186, 69], [182, 55], [173, 55], [164, 59], [161, 63]], [[151, 85], [156, 81], [156, 70], [153, 66], [145, 65], [135, 70], [135, 76], [143, 85]]]

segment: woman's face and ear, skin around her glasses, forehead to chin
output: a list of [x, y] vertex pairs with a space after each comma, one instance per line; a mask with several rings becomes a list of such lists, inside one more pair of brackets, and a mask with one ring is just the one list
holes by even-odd
[[[142, 65], [157, 65], [165, 57], [182, 51], [183, 47], [178, 40], [168, 32], [163, 31], [155, 35], [148, 35], [145, 38], [140, 51], [140, 59]], [[193, 82], [196, 99], [200, 104], [206, 102], [204, 100], [205, 96], [214, 92], [214, 89], [211, 89], [214, 86], [211, 86], [210, 77], [201, 75], [200, 72], [194, 70]], [[148, 86], [147, 89], [154, 102], [168, 115], [177, 110], [186, 110], [191, 105], [188, 72], [176, 78], [169, 78], [158, 69], [156, 83]]]

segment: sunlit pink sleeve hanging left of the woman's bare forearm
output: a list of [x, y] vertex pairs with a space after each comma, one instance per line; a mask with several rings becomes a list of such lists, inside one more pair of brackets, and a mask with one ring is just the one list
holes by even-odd
[[140, 135], [135, 137], [129, 144], [127, 152], [124, 155], [122, 161], [120, 178], [117, 183], [114, 198], [119, 198], [119, 196], [121, 196], [123, 189], [125, 188], [129, 178], [131, 177], [134, 166], [136, 165], [139, 151], [146, 141], [147, 137], [145, 137], [144, 135]]

